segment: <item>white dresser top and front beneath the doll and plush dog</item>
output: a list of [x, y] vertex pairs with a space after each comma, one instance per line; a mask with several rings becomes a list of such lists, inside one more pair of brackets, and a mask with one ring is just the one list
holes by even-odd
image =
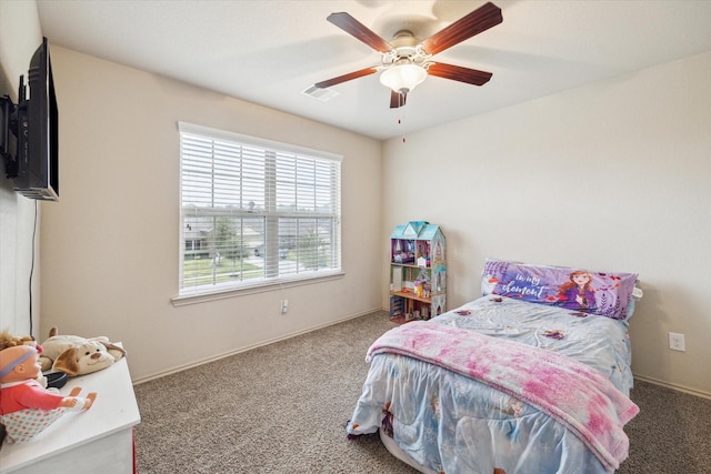
[[67, 412], [24, 443], [0, 447], [0, 474], [133, 473], [133, 426], [141, 416], [127, 357], [93, 374], [70, 377], [60, 390], [97, 392], [91, 409]]

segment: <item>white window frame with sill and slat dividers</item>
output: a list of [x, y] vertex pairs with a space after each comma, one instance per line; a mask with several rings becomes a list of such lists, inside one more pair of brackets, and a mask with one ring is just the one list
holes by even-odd
[[[178, 131], [179, 131], [179, 142], [180, 142], [180, 183], [179, 183], [179, 221], [180, 221], [180, 232], [179, 232], [179, 242], [180, 242], [180, 251], [179, 251], [179, 273], [178, 273], [178, 295], [171, 299], [173, 305], [179, 306], [183, 304], [192, 304], [196, 302], [202, 301], [212, 301], [224, 297], [232, 297], [237, 295], [251, 294], [251, 293], [260, 293], [266, 291], [273, 291], [283, 289], [284, 286], [294, 286], [294, 285], [303, 285], [303, 284], [313, 284], [317, 282], [321, 282], [324, 280], [333, 280], [341, 278], [343, 275], [342, 272], [342, 244], [341, 244], [341, 195], [342, 195], [342, 183], [341, 183], [341, 164], [342, 157], [324, 152], [320, 150], [313, 150], [304, 147], [281, 143], [272, 140], [254, 138], [249, 135], [243, 135], [236, 132], [229, 132], [224, 130], [212, 129], [209, 127], [197, 125], [187, 122], [178, 122]], [[221, 208], [220, 205], [210, 206], [207, 205], [204, 208], [200, 208], [198, 210], [197, 206], [191, 208], [193, 214], [190, 214], [186, 211], [187, 206], [183, 205], [183, 181], [187, 175], [190, 175], [189, 171], [186, 171], [187, 165], [184, 165], [186, 154], [183, 152], [183, 143], [184, 138], [190, 137], [203, 139], [210, 141], [211, 150], [216, 150], [216, 141], [221, 142], [230, 142], [236, 145], [240, 150], [243, 148], [257, 149], [259, 152], [263, 152], [263, 168], [264, 175], [263, 179], [263, 193], [264, 193], [264, 208], [253, 213], [252, 210], [246, 210], [243, 208], [243, 201], [239, 209], [232, 209], [229, 212], [226, 211], [228, 208]], [[288, 160], [287, 160], [288, 159]], [[280, 161], [281, 160], [281, 161]], [[289, 161], [291, 160], [291, 161]], [[273, 200], [272, 196], [267, 196], [269, 193], [274, 193], [274, 189], [277, 188], [277, 182], [282, 177], [279, 172], [274, 171], [277, 162], [286, 163], [289, 161], [294, 167], [294, 193], [298, 193], [300, 189], [300, 184], [310, 183], [310, 181], [299, 181], [297, 178], [299, 175], [298, 170], [303, 168], [303, 163], [309, 163], [313, 161], [314, 167], [324, 168], [329, 175], [329, 185], [327, 186], [328, 193], [330, 194], [327, 199], [329, 211], [318, 211], [317, 208], [311, 210], [280, 210], [278, 209], [277, 201]], [[237, 172], [234, 170], [239, 169], [244, 162], [244, 159], [240, 155], [238, 161], [236, 162], [234, 168], [230, 169], [231, 172]], [[241, 177], [242, 172], [237, 173]], [[311, 183], [312, 184], [312, 183]], [[210, 189], [212, 195], [218, 192], [218, 189], [214, 185], [209, 185], [206, 189]], [[240, 192], [243, 192], [240, 190]], [[271, 199], [271, 201], [269, 201]], [[294, 195], [294, 199], [296, 195]], [[314, 203], [314, 205], [317, 205]], [[186, 279], [186, 254], [188, 253], [187, 244], [191, 244], [191, 250], [197, 251], [200, 250], [200, 241], [196, 240], [194, 236], [186, 235], [186, 224], [187, 219], [189, 216], [194, 218], [196, 215], [204, 215], [211, 216], [211, 219], [217, 220], [221, 214], [229, 214], [230, 219], [234, 221], [239, 221], [240, 229], [244, 228], [244, 220], [259, 220], [263, 219], [263, 228], [262, 228], [262, 248], [266, 250], [266, 254], [270, 255], [268, 259], [262, 258], [262, 275], [259, 278], [246, 278], [244, 274], [240, 273], [238, 281], [232, 281], [228, 283], [218, 283], [212, 281], [209, 284], [200, 285], [184, 285]], [[280, 249], [280, 241], [283, 238], [281, 228], [284, 225], [284, 221], [293, 221], [297, 222], [297, 228], [299, 229], [300, 223], [307, 224], [310, 222], [310, 225], [316, 229], [317, 235], [319, 234], [319, 222], [327, 221], [327, 228], [330, 229], [329, 241], [327, 249], [329, 250], [328, 261], [329, 266], [324, 269], [320, 269], [319, 264], [316, 264], [314, 270], [297, 270], [294, 273], [282, 273], [282, 270], [279, 265], [279, 260], [282, 254]], [[281, 224], [280, 224], [281, 222]], [[190, 229], [190, 226], [188, 226]], [[213, 225], [212, 232], [214, 234], [218, 233], [217, 224]], [[299, 240], [302, 238], [301, 234], [298, 233], [291, 235], [292, 239]], [[270, 235], [271, 238], [267, 236]], [[212, 236], [213, 240], [217, 240], [216, 236]], [[241, 239], [241, 238], [240, 238]], [[317, 238], [318, 239], [318, 238]], [[189, 242], [190, 241], [190, 242]], [[197, 245], [196, 245], [197, 244]], [[321, 245], [317, 244], [316, 248], [319, 249]], [[243, 243], [240, 240], [239, 243], [240, 252], [242, 252]], [[234, 250], [234, 249], [232, 249]], [[217, 253], [217, 252], [216, 252]], [[218, 253], [219, 255], [219, 253]], [[322, 256], [317, 250], [317, 262], [318, 259]], [[214, 256], [211, 256], [214, 259]], [[303, 260], [299, 260], [297, 256], [297, 268], [300, 269], [299, 263], [303, 262]], [[306, 256], [304, 256], [306, 259]], [[219, 256], [218, 256], [219, 262]], [[274, 265], [276, 262], [276, 265]], [[213, 279], [214, 280], [214, 279]]]

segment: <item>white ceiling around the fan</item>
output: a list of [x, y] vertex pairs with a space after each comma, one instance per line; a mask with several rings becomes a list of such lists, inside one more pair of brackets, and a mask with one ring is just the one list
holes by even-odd
[[[369, 75], [314, 82], [377, 65], [380, 54], [329, 23], [346, 11], [385, 40], [423, 40], [484, 2], [38, 0], [51, 44], [171, 77], [375, 139], [434, 127], [711, 50], [709, 0], [494, 0], [503, 23], [435, 60], [493, 73], [482, 87], [430, 77], [390, 109]], [[673, 84], [669, 84], [673, 87]], [[401, 123], [398, 123], [401, 121]]]

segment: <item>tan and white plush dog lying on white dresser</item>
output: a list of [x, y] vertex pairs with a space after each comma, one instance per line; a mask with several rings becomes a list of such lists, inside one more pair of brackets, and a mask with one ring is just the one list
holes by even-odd
[[106, 336], [60, 335], [57, 327], [51, 329], [49, 339], [41, 345], [44, 349], [40, 356], [42, 370], [52, 369], [70, 376], [100, 371], [126, 355], [123, 347]]

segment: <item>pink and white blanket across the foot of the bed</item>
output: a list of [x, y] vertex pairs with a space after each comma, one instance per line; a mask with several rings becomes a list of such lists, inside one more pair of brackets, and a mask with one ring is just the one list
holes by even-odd
[[565, 425], [610, 472], [629, 454], [622, 427], [639, 407], [597, 370], [571, 357], [442, 324], [413, 321], [368, 350], [408, 355], [514, 396]]

